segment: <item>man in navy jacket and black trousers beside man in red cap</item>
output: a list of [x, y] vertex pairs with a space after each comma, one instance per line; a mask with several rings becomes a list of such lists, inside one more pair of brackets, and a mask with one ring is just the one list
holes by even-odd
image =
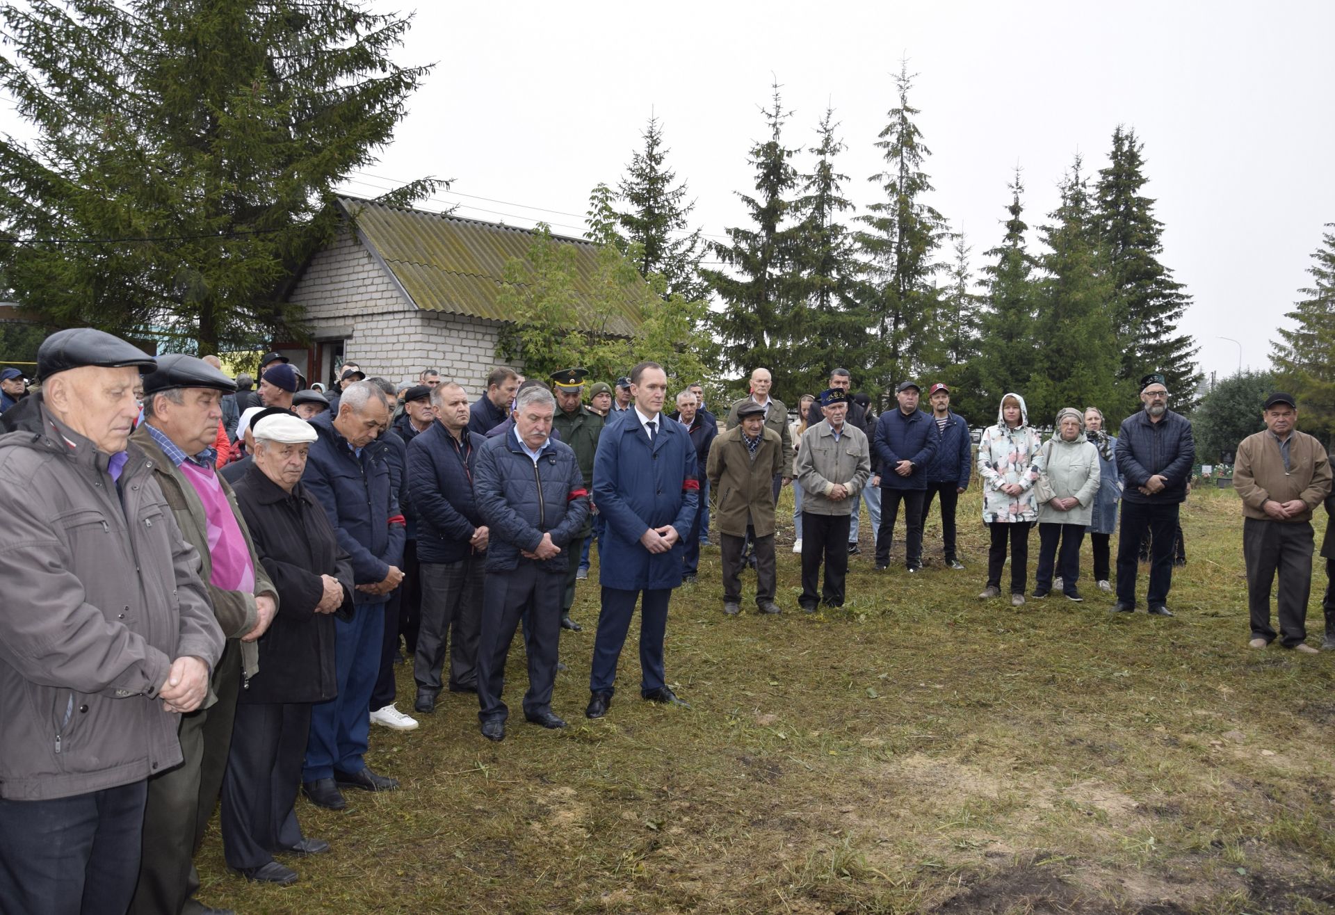
[[925, 413], [917, 409], [921, 390], [912, 381], [894, 389], [898, 407], [876, 421], [872, 450], [881, 466], [881, 526], [876, 532], [876, 568], [890, 565], [894, 518], [904, 502], [908, 537], [904, 565], [909, 572], [922, 568], [922, 505], [926, 501], [926, 468], [936, 457], [940, 438]]

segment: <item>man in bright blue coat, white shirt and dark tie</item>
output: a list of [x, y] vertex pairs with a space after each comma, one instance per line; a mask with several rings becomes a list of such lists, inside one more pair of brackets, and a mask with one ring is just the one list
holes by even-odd
[[625, 418], [607, 426], [593, 464], [594, 504], [606, 521], [601, 545], [602, 613], [589, 676], [591, 719], [607, 713], [617, 660], [626, 643], [635, 600], [639, 620], [639, 695], [653, 703], [685, 705], [663, 673], [668, 601], [681, 584], [682, 538], [700, 500], [696, 446], [680, 422], [668, 419], [668, 375], [657, 362], [630, 373], [634, 397]]

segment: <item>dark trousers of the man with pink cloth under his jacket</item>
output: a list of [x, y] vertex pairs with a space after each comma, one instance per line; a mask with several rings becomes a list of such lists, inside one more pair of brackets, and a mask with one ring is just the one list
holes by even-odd
[[218, 701], [180, 716], [176, 731], [186, 761], [148, 779], [139, 886], [129, 911], [179, 912], [199, 890], [192, 858], [204, 840], [223, 788], [242, 687], [240, 643], [228, 638], [208, 684]]

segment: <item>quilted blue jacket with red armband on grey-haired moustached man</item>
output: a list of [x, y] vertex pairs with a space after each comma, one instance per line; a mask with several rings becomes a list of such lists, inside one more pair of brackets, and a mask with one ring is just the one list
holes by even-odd
[[489, 438], [478, 449], [473, 498], [490, 529], [487, 572], [517, 568], [547, 533], [561, 552], [538, 565], [566, 570], [570, 541], [589, 517], [589, 490], [569, 445], [549, 438], [534, 462], [514, 431]]

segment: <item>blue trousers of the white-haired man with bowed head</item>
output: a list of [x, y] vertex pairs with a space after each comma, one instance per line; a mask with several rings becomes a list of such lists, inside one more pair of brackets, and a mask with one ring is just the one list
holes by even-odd
[[356, 604], [352, 620], [334, 617], [334, 672], [338, 696], [311, 708], [302, 780], [334, 777], [334, 769], [360, 772], [371, 736], [367, 704], [380, 673], [384, 604]]

